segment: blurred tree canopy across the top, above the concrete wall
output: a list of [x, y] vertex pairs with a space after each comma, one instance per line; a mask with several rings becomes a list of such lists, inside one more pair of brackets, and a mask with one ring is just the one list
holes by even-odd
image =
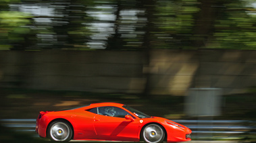
[[256, 47], [253, 0], [0, 0], [0, 50]]

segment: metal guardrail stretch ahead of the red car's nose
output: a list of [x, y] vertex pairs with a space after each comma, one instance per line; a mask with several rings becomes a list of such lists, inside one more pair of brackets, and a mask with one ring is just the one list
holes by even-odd
[[173, 120], [192, 130], [198, 139], [242, 140], [256, 137], [256, 122], [248, 120]]

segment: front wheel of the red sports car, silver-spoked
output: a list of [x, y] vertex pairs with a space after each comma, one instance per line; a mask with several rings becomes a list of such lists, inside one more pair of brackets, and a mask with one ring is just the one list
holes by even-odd
[[165, 138], [164, 129], [157, 124], [149, 124], [142, 130], [142, 138], [147, 143], [160, 143]]

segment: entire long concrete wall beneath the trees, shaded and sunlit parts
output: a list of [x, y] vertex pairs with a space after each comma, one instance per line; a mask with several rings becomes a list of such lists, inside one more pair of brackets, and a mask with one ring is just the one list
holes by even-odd
[[[1, 51], [0, 87], [185, 95], [190, 87], [243, 93], [256, 86], [256, 51]], [[149, 73], [149, 79], [145, 74]]]

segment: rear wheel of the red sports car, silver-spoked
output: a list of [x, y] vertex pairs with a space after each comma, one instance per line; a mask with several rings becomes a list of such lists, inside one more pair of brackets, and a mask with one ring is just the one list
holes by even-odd
[[72, 128], [68, 122], [55, 121], [49, 125], [48, 137], [54, 142], [68, 142], [72, 138]]

